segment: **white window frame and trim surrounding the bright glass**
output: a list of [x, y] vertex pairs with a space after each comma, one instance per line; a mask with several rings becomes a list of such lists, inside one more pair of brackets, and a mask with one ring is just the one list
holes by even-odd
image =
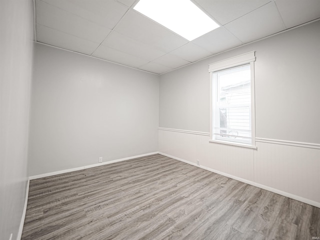
[[[210, 142], [223, 143], [228, 145], [244, 146], [250, 148], [256, 148], [255, 146], [255, 97], [254, 97], [254, 61], [255, 61], [255, 51], [250, 51], [238, 56], [227, 58], [222, 61], [214, 62], [209, 64], [210, 73]], [[244, 64], [250, 64], [251, 71], [251, 143], [241, 143], [236, 141], [227, 141], [215, 139], [213, 135], [213, 73], [220, 70], [226, 70], [236, 66], [241, 66]]]

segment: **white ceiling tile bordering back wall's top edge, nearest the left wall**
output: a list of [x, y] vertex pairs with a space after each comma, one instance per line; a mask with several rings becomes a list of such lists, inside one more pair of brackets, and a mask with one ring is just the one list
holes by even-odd
[[98, 43], [84, 40], [82, 38], [58, 31], [43, 25], [36, 24], [37, 41], [53, 46], [62, 47], [68, 50], [91, 54]]

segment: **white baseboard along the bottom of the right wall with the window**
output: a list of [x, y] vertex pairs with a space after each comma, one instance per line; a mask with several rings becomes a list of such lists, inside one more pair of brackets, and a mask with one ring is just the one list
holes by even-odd
[[297, 195], [291, 194], [289, 192], [281, 191], [279, 189], [272, 188], [272, 187], [269, 187], [269, 186], [266, 186], [266, 185], [262, 185], [260, 183], [257, 183], [257, 182], [254, 182], [254, 181], [250, 181], [250, 180], [238, 177], [238, 176], [233, 176], [231, 174], [228, 174], [228, 173], [225, 173], [225, 172], [222, 172], [222, 171], [218, 171], [218, 170], [206, 167], [206, 166], [197, 165], [197, 164], [195, 164], [193, 162], [190, 162], [190, 161], [187, 161], [187, 160], [184, 160], [184, 159], [181, 159], [179, 157], [175, 157], [175, 156], [163, 153], [163, 152], [158, 152], [158, 153], [161, 154], [161, 155], [168, 156], [168, 157], [171, 157], [173, 159], [188, 163], [190, 165], [197, 166], [197, 167], [203, 168], [203, 169], [208, 170], [208, 171], [212, 171], [212, 172], [217, 173], [219, 175], [226, 176], [226, 177], [229, 177], [229, 178], [232, 178], [232, 179], [235, 179], [235, 180], [250, 184], [252, 186], [256, 186], [256, 187], [262, 188], [262, 189], [267, 190], [267, 191], [272, 191], [272, 192], [280, 194], [282, 196], [286, 196], [286, 197], [289, 197], [289, 198], [292, 198], [292, 199], [295, 199], [295, 200], [298, 200], [298, 201], [301, 201], [301, 202], [304, 202], [304, 203], [307, 203], [307, 204], [310, 204], [312, 206], [316, 206], [316, 207], [320, 208], [320, 202], [313, 201], [313, 200], [310, 200], [310, 199], [307, 199], [307, 198], [304, 198], [304, 197], [301, 197], [301, 196], [297, 196]]

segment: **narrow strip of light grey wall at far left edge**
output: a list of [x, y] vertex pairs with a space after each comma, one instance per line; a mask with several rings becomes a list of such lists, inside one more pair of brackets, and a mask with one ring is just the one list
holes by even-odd
[[0, 239], [16, 239], [27, 183], [32, 0], [0, 0]]

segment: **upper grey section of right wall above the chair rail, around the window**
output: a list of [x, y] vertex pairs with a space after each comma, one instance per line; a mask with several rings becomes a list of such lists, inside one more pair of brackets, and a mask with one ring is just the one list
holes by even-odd
[[256, 51], [256, 137], [320, 143], [320, 21], [160, 76], [159, 126], [209, 132], [208, 64]]

